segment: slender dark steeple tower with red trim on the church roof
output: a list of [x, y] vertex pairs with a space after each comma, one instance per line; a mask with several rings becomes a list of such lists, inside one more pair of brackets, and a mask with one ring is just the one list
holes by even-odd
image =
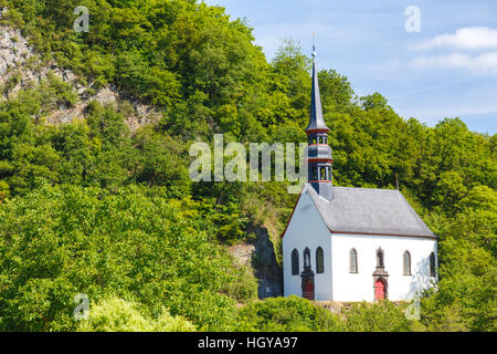
[[313, 90], [310, 93], [310, 117], [306, 128], [308, 139], [308, 180], [319, 196], [331, 200], [331, 148], [328, 146], [328, 132], [322, 118], [321, 97], [316, 70], [316, 46], [313, 45]]

